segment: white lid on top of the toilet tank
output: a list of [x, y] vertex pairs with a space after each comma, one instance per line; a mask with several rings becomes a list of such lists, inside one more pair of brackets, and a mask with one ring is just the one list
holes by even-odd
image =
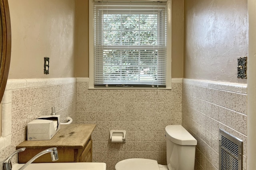
[[178, 145], [197, 145], [196, 139], [182, 125], [168, 125], [165, 127], [168, 139]]

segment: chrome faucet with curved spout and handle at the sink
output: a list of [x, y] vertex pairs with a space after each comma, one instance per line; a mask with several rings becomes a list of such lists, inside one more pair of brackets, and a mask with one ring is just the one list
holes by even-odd
[[[4, 160], [4, 162], [3, 162], [4, 170], [12, 170], [12, 162], [11, 162], [12, 156], [14, 156], [18, 152], [24, 151], [25, 149], [26, 148], [21, 148], [21, 149], [16, 150], [6, 160]], [[31, 164], [34, 160], [36, 160], [36, 158], [42, 156], [43, 154], [49, 153], [49, 152], [51, 152], [52, 161], [56, 161], [59, 159], [57, 148], [56, 147], [49, 148], [49, 149], [43, 150], [42, 152], [38, 153], [36, 156], [34, 156], [32, 159], [30, 159], [26, 164], [24, 164], [19, 170], [23, 170], [29, 164]]]

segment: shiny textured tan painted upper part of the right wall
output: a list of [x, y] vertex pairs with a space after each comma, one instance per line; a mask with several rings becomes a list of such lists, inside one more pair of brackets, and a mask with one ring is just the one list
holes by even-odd
[[184, 0], [184, 78], [246, 83], [237, 58], [248, 51], [247, 0]]

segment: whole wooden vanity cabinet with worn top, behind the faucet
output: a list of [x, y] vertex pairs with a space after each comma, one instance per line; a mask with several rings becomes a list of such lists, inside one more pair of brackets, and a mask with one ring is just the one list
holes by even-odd
[[[92, 162], [92, 139], [95, 124], [60, 125], [51, 140], [24, 141], [16, 147], [26, 150], [18, 153], [18, 163], [24, 164], [42, 150], [57, 147], [59, 160], [56, 162]], [[37, 158], [34, 163], [52, 162], [50, 153]]]

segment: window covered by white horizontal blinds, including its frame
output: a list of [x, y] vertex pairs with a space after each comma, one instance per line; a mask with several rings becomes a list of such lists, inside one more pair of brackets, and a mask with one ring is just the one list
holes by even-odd
[[169, 86], [167, 2], [97, 0], [93, 7], [94, 88]]

